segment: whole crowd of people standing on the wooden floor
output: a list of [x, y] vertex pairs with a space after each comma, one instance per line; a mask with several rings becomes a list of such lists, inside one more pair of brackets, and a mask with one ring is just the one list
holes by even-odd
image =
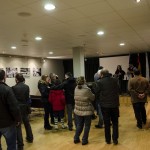
[[[114, 145], [117, 145], [120, 117], [119, 94], [122, 86], [121, 80], [125, 75], [120, 65], [117, 66], [115, 75], [112, 76], [107, 69], [100, 66], [90, 88], [83, 76], [75, 79], [70, 72], [65, 74], [62, 82], [55, 73], [51, 73], [49, 76], [42, 75], [38, 82], [38, 89], [44, 108], [44, 129], [58, 130], [59, 122], [62, 129], [73, 131], [73, 128], [76, 128], [74, 143], [82, 142], [82, 145], [86, 145], [89, 142], [92, 116], [96, 109], [99, 120], [95, 127], [104, 128], [107, 144], [113, 142]], [[10, 88], [5, 83], [5, 71], [0, 70], [0, 137], [5, 137], [8, 150], [23, 150], [21, 122], [25, 126], [26, 141], [32, 143], [34, 139], [28, 118], [30, 89], [25, 84], [22, 74], [16, 74], [15, 80], [16, 85]], [[142, 129], [144, 125], [148, 124], [145, 103], [149, 94], [149, 82], [140, 75], [140, 71], [137, 69], [134, 70], [134, 77], [130, 78], [128, 82], [128, 90], [137, 121], [136, 126]], [[95, 107], [93, 101], [95, 101]], [[64, 120], [65, 112], [67, 125]], [[80, 141], [83, 130], [82, 141]]]

